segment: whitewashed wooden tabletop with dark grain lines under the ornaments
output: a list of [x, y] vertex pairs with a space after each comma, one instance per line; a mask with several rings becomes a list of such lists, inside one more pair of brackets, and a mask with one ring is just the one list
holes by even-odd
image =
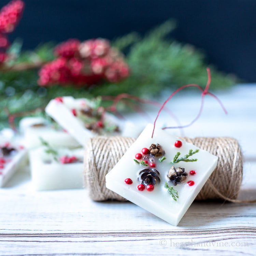
[[[256, 87], [240, 85], [217, 95], [229, 115], [207, 98], [202, 117], [183, 133], [237, 138], [245, 157], [239, 198], [255, 199]], [[185, 108], [181, 97], [189, 112], [179, 112]], [[184, 94], [170, 108], [186, 124], [199, 101]], [[142, 122], [139, 115], [127, 118]], [[0, 255], [5, 256], [256, 255], [255, 203], [193, 202], [175, 227], [130, 202], [91, 201], [86, 189], [34, 191], [23, 168], [0, 189], [0, 207]]]

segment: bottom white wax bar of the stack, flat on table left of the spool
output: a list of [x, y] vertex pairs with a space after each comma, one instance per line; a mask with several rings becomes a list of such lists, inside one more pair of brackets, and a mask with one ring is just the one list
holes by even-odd
[[32, 184], [35, 190], [71, 189], [83, 187], [83, 155], [84, 149], [69, 150], [59, 148], [57, 159], [75, 156], [78, 161], [61, 163], [39, 147], [29, 152]]

